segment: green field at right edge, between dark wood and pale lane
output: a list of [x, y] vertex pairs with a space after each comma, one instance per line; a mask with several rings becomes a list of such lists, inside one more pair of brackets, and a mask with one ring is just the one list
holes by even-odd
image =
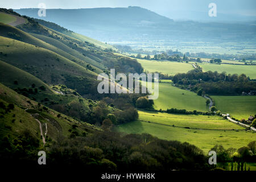
[[211, 96], [222, 113], [236, 119], [248, 119], [256, 114], [256, 96]]

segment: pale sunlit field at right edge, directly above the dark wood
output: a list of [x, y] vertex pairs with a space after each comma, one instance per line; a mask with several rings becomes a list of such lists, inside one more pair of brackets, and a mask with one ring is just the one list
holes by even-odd
[[231, 64], [200, 64], [204, 72], [217, 71], [218, 73], [226, 72], [230, 74], [237, 73], [241, 75], [244, 73], [246, 76], [255, 79], [256, 78], [256, 65], [231, 65]]

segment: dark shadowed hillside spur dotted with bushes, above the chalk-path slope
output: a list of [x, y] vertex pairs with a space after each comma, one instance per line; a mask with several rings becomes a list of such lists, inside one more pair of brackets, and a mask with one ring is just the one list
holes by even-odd
[[76, 90], [65, 85], [48, 86], [39, 78], [3, 61], [0, 61], [0, 82], [23, 96], [81, 121], [90, 122], [90, 113], [98, 105], [98, 102], [82, 98]]

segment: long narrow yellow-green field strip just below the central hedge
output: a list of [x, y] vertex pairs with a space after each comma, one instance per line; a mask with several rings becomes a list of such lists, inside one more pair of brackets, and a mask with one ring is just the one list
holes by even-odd
[[217, 115], [184, 115], [139, 111], [139, 121], [159, 123], [161, 125], [175, 125], [193, 129], [209, 130], [243, 130], [244, 128], [219, 117]]

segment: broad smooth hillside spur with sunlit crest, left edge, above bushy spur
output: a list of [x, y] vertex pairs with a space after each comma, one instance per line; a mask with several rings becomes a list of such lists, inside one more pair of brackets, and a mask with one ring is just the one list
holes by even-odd
[[76, 88], [81, 94], [93, 93], [97, 89], [96, 73], [65, 57], [14, 39], [0, 37], [0, 40], [0, 58], [3, 61], [31, 73], [43, 82], [65, 84], [69, 88]]

